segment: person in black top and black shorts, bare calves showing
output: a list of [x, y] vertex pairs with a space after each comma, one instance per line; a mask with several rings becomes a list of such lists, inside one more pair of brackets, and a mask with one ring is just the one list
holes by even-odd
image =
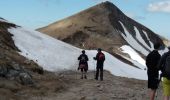
[[160, 44], [154, 44], [154, 50], [146, 57], [146, 66], [148, 74], [148, 89], [150, 100], [154, 100], [156, 89], [159, 84], [159, 69], [157, 68], [161, 55], [158, 52]]

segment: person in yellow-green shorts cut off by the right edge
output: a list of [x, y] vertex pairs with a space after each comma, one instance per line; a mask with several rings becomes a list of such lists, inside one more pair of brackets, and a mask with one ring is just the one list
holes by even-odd
[[162, 72], [162, 85], [164, 100], [170, 99], [170, 46], [169, 51], [164, 53], [160, 60], [160, 70]]

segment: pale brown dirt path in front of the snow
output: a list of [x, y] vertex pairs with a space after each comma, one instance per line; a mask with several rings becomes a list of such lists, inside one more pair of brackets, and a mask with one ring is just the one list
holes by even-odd
[[80, 79], [80, 73], [75, 72], [60, 75], [68, 82], [65, 90], [30, 100], [149, 100], [147, 81], [116, 77], [106, 71], [104, 81], [94, 80], [94, 72], [88, 73], [88, 79]]

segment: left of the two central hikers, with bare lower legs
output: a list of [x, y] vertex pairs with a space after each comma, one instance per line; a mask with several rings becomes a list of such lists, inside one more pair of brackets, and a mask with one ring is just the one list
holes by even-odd
[[87, 76], [86, 76], [86, 73], [87, 73], [87, 70], [88, 70], [88, 63], [87, 61], [89, 60], [87, 55], [85, 54], [85, 50], [82, 50], [82, 54], [78, 57], [78, 60], [79, 60], [79, 67], [78, 67], [78, 70], [80, 69], [81, 70], [81, 79], [83, 79], [83, 77], [85, 79], [87, 79]]

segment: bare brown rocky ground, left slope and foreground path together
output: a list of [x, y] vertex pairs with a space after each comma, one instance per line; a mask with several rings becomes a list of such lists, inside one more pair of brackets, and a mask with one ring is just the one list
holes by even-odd
[[0, 25], [0, 100], [148, 99], [146, 81], [113, 76], [107, 71], [104, 81], [94, 80], [94, 71], [88, 72], [87, 80], [81, 80], [77, 71], [44, 71], [33, 60], [20, 55], [8, 31], [19, 26], [3, 21]]

